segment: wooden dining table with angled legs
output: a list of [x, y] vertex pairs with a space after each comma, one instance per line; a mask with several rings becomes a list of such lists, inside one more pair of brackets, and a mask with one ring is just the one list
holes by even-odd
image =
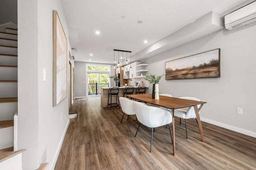
[[[175, 109], [181, 109], [184, 107], [192, 107], [192, 106], [194, 107], [201, 139], [202, 139], [202, 142], [205, 142], [199, 111], [202, 108], [202, 106], [207, 102], [187, 100], [187, 99], [167, 97], [167, 96], [159, 96], [159, 100], [155, 100], [154, 98], [152, 98], [151, 94], [132, 94], [132, 95], [126, 95], [126, 96], [128, 96], [131, 99], [140, 100], [142, 102], [172, 109], [172, 135], [173, 135], [173, 155], [174, 156], [175, 156], [175, 127], [174, 127], [174, 110]], [[197, 105], [200, 105], [200, 107], [198, 108]]]

